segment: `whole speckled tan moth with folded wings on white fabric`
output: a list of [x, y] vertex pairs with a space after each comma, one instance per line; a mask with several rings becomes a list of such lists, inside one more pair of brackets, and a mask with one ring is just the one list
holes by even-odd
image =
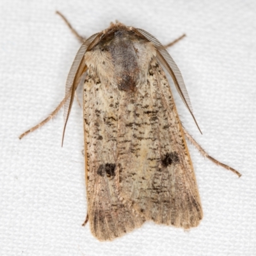
[[123, 236], [145, 221], [184, 229], [198, 226], [203, 211], [185, 137], [203, 156], [240, 173], [209, 156], [182, 127], [163, 68], [192, 116], [193, 110], [172, 57], [143, 29], [116, 22], [85, 40], [63, 19], [82, 41], [68, 74], [65, 98], [20, 138], [44, 125], [62, 106], [64, 136], [76, 88], [86, 73], [84, 225], [89, 221], [100, 241]]

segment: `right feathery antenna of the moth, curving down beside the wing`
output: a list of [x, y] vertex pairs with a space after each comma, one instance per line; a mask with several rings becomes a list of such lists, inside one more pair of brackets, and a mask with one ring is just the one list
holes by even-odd
[[172, 56], [170, 56], [168, 51], [166, 51], [164, 46], [156, 39], [156, 37], [152, 36], [150, 33], [148, 33], [147, 31], [145, 31], [143, 29], [140, 29], [140, 28], [136, 28], [136, 31], [138, 31], [138, 33], [140, 35], [144, 36], [147, 40], [152, 42], [154, 44], [154, 46], [156, 47], [157, 60], [163, 65], [163, 67], [172, 76], [173, 82], [175, 84], [177, 91], [179, 92], [179, 95], [180, 95], [182, 101], [184, 102], [186, 108], [188, 108], [188, 111], [192, 115], [198, 130], [202, 134], [202, 131], [200, 130], [199, 125], [196, 122], [196, 118], [193, 115], [193, 108], [192, 108], [192, 105], [191, 105], [191, 102], [189, 99], [188, 91], [186, 89], [186, 85], [184, 83], [182, 74], [181, 74], [178, 66], [176, 65], [175, 61], [173, 60]]

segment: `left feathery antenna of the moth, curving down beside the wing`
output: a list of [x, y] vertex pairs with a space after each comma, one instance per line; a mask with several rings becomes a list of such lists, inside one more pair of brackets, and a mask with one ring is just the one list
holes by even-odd
[[86, 41], [83, 42], [79, 50], [77, 51], [76, 58], [72, 63], [70, 71], [68, 73], [66, 87], [65, 87], [65, 104], [64, 104], [64, 128], [61, 147], [63, 147], [65, 129], [68, 122], [68, 117], [72, 108], [72, 103], [74, 101], [74, 95], [76, 92], [77, 85], [79, 84], [81, 75], [86, 72], [86, 63], [84, 61], [84, 54], [90, 45], [93, 43], [95, 38], [99, 33], [90, 36]]

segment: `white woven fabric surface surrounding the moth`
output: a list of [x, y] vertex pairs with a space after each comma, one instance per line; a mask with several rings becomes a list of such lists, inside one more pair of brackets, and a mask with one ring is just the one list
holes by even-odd
[[[0, 2], [0, 255], [256, 255], [256, 2]], [[62, 111], [23, 140], [63, 98], [79, 42], [54, 12], [84, 36], [116, 19], [167, 44], [193, 104], [193, 119], [173, 93], [184, 126], [209, 154], [243, 173], [204, 159], [189, 145], [204, 219], [189, 232], [146, 223], [100, 243], [89, 226], [84, 185], [83, 117], [74, 102], [64, 147]], [[81, 96], [81, 93], [80, 93]]]

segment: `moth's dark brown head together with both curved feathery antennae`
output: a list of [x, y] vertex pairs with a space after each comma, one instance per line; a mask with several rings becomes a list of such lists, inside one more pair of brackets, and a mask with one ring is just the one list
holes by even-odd
[[[100, 33], [96, 33], [90, 36], [86, 41], [83, 42], [81, 47], [79, 48], [76, 58], [72, 63], [72, 67], [70, 68], [70, 72], [68, 73], [66, 88], [65, 88], [65, 104], [64, 104], [64, 129], [63, 129], [63, 138], [65, 134], [65, 128], [67, 125], [68, 116], [70, 115], [70, 111], [72, 108], [72, 103], [74, 100], [74, 94], [81, 79], [81, 76], [84, 72], [86, 72], [87, 66], [84, 60], [84, 54], [86, 51], [92, 51], [93, 47], [99, 47], [102, 52], [108, 51], [108, 47], [111, 44], [112, 40], [118, 40], [118, 37], [125, 37], [127, 35], [137, 35], [138, 38], [146, 40], [147, 42], [151, 42], [156, 48], [156, 57], [159, 63], [163, 65], [163, 67], [167, 70], [167, 72], [172, 76], [174, 84], [179, 92], [181, 99], [183, 100], [186, 108], [188, 108], [189, 112], [193, 116], [195, 120], [195, 116], [193, 115], [193, 109], [191, 106], [191, 102], [189, 100], [188, 92], [186, 90], [186, 86], [184, 84], [184, 80], [180, 73], [179, 68], [176, 63], [173, 61], [172, 57], [163, 45], [150, 33], [143, 29], [127, 27], [120, 22], [111, 23], [108, 29]], [[195, 120], [196, 123], [196, 120]], [[197, 127], [198, 124], [196, 123]], [[199, 127], [198, 127], [199, 129]], [[199, 129], [200, 131], [200, 129]], [[201, 131], [200, 131], [201, 132]], [[202, 133], [202, 132], [201, 132]], [[63, 144], [63, 139], [62, 139]]]

